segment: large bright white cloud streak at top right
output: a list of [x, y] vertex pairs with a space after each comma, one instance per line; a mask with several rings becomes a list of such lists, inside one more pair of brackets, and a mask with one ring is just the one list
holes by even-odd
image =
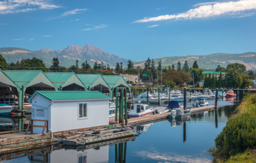
[[182, 20], [192, 18], [208, 18], [210, 16], [220, 16], [223, 14], [233, 15], [241, 14], [243, 11], [249, 11], [256, 9], [255, 0], [240, 0], [229, 2], [218, 2], [215, 4], [207, 4], [198, 6], [198, 8], [190, 9], [184, 13], [178, 13], [174, 15], [164, 15], [152, 18], [143, 18], [141, 20], [134, 21], [134, 23], [146, 23], [151, 21], [166, 21], [166, 20]]

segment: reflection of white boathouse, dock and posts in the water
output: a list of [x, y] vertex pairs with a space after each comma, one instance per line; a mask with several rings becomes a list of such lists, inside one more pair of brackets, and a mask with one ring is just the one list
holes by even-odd
[[0, 156], [1, 161], [11, 160], [11, 162], [109, 162], [109, 145], [114, 145], [115, 162], [126, 162], [127, 142], [134, 141], [136, 136], [124, 137], [118, 140], [99, 142], [92, 145], [83, 146], [63, 146], [59, 143], [45, 145], [33, 150], [21, 150], [9, 154], [6, 152]]

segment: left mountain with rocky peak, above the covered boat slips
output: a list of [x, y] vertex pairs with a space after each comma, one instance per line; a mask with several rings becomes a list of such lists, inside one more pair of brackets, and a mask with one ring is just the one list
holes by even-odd
[[95, 47], [92, 45], [85, 45], [84, 47], [70, 45], [63, 50], [43, 48], [35, 51], [18, 47], [1, 47], [0, 54], [3, 55], [8, 63], [15, 63], [17, 60], [37, 57], [43, 60], [46, 65], [52, 64], [53, 57], [58, 57], [60, 64], [65, 67], [74, 65], [76, 60], [79, 61], [79, 64], [82, 64], [82, 62], [87, 60], [91, 66], [95, 61], [97, 63], [104, 62], [106, 65], [110, 64], [111, 67], [114, 67], [116, 62], [123, 62], [126, 64], [128, 61], [124, 58], [118, 57], [117, 55], [104, 52], [101, 47]]

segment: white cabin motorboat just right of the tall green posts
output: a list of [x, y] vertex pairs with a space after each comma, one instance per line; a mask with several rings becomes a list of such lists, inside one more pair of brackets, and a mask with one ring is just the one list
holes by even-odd
[[153, 108], [149, 108], [149, 105], [143, 103], [135, 103], [131, 106], [128, 116], [130, 118], [142, 117], [151, 115], [154, 112]]

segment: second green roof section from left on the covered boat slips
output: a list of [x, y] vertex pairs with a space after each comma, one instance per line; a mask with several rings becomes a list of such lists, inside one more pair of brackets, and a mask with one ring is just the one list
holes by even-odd
[[46, 74], [46, 77], [59, 88], [60, 86], [63, 86], [75, 72], [45, 72], [44, 74]]

